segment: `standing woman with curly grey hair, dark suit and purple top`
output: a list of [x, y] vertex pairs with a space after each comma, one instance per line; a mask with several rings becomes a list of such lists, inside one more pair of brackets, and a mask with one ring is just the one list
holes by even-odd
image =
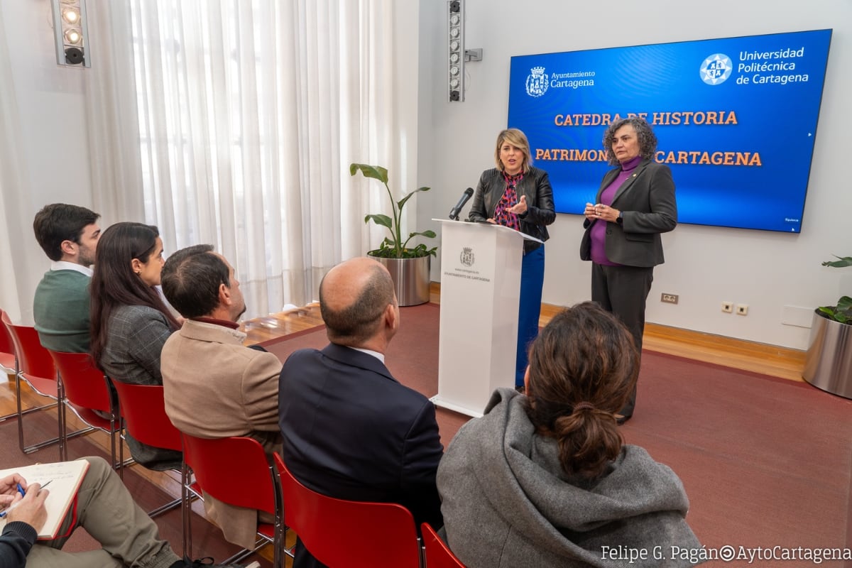
[[[668, 166], [653, 161], [657, 136], [643, 118], [610, 124], [603, 146], [618, 167], [603, 176], [596, 204], [585, 205], [580, 258], [592, 261], [591, 299], [619, 316], [641, 356], [653, 267], [664, 261], [659, 235], [677, 225], [675, 182]], [[636, 387], [619, 423], [630, 420], [635, 406]]]

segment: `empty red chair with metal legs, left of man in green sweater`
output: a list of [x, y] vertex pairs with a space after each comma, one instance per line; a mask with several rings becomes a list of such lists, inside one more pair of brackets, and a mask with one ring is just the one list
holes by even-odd
[[[65, 459], [66, 454], [65, 423], [62, 422], [62, 412], [59, 412], [59, 430], [56, 438], [45, 440], [33, 445], [25, 445], [23, 418], [26, 412], [21, 408], [20, 399], [21, 381], [26, 381], [26, 383], [32, 387], [33, 391], [43, 397], [48, 397], [49, 399], [54, 399], [56, 401], [60, 401], [62, 399], [61, 386], [56, 380], [56, 369], [53, 359], [50, 358], [50, 354], [47, 349], [42, 347], [42, 343], [39, 341], [38, 333], [34, 327], [29, 325], [13, 324], [11, 319], [9, 319], [8, 313], [3, 312], [0, 315], [2, 315], [3, 326], [12, 338], [12, 342], [14, 343], [14, 353], [17, 355], [14, 366], [14, 393], [18, 404], [15, 416], [18, 417], [18, 444], [20, 445], [20, 450], [25, 454], [29, 454], [47, 445], [59, 442], [59, 456], [61, 461]], [[39, 406], [37, 409], [27, 410], [41, 410], [55, 406], [55, 404], [58, 403], [45, 404], [43, 406]]]

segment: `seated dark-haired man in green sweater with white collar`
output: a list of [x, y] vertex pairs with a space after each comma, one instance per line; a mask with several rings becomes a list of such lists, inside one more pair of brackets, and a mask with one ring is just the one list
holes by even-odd
[[52, 261], [32, 302], [42, 345], [54, 351], [89, 351], [89, 280], [101, 236], [97, 213], [77, 205], [50, 204], [32, 229]]

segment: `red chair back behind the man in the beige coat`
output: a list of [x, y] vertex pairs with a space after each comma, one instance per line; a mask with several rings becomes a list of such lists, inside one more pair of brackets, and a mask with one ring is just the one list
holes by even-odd
[[181, 432], [183, 461], [201, 489], [229, 505], [275, 514], [275, 489], [266, 451], [256, 439], [196, 438]]

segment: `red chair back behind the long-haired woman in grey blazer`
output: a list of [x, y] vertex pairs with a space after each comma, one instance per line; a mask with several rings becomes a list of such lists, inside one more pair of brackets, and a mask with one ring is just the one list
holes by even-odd
[[163, 385], [132, 385], [112, 381], [124, 428], [142, 444], [181, 451], [181, 432], [165, 413]]

